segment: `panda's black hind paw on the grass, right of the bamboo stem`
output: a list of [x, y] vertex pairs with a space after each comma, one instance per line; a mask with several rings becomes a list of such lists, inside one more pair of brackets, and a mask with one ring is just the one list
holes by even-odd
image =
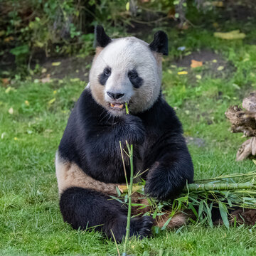
[[144, 216], [141, 218], [132, 218], [131, 220], [131, 235], [136, 235], [139, 238], [151, 237], [151, 228], [154, 224], [151, 216]]

